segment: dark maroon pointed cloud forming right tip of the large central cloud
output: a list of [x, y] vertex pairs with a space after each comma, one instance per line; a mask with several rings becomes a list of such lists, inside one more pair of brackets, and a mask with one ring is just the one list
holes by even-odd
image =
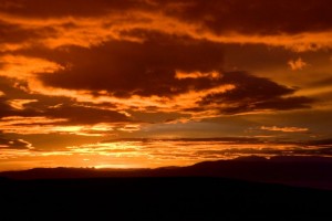
[[222, 82], [232, 84], [236, 88], [225, 93], [209, 94], [198, 104], [200, 106], [227, 104], [227, 107], [220, 112], [237, 114], [257, 109], [308, 108], [313, 102], [311, 98], [302, 96], [284, 97], [293, 94], [295, 90], [246, 72], [224, 73]]

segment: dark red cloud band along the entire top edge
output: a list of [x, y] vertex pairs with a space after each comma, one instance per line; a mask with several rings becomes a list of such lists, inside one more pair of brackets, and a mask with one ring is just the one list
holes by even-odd
[[137, 10], [163, 12], [218, 33], [300, 33], [331, 30], [330, 0], [8, 0], [0, 11], [24, 17], [96, 17]]

